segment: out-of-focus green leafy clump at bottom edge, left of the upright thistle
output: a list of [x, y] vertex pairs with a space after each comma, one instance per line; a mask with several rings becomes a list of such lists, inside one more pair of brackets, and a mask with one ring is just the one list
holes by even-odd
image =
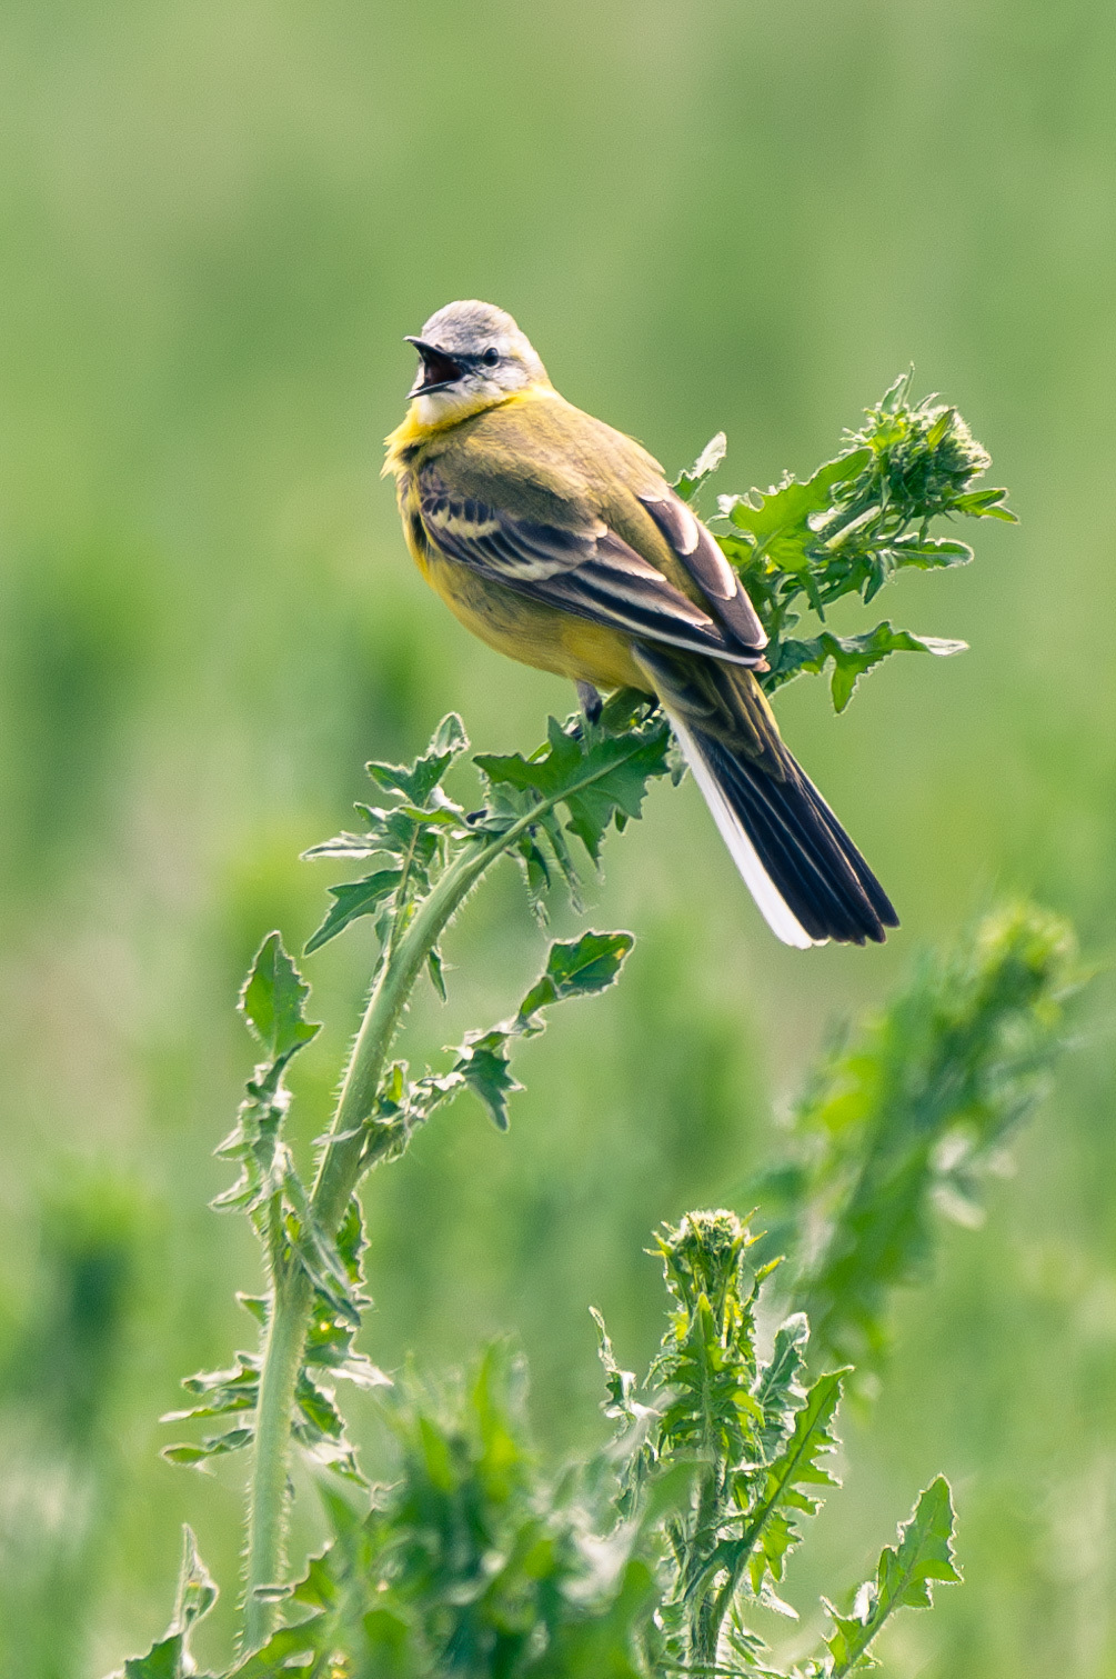
[[594, 1536], [587, 1479], [540, 1471], [522, 1358], [497, 1343], [445, 1394], [409, 1378], [383, 1419], [391, 1486], [366, 1509], [322, 1486], [331, 1543], [228, 1679], [639, 1679], [633, 1632], [658, 1595], [646, 1531]]

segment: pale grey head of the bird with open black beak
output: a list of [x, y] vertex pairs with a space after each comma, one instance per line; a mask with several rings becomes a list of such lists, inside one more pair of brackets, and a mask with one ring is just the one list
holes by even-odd
[[493, 304], [446, 304], [408, 344], [423, 358], [409, 395], [428, 425], [480, 413], [529, 386], [550, 388], [527, 336]]

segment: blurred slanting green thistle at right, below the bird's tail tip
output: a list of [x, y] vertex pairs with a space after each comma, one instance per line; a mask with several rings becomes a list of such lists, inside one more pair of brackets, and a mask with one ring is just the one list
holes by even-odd
[[797, 1256], [789, 1298], [829, 1355], [886, 1345], [893, 1288], [920, 1279], [933, 1212], [980, 1221], [1004, 1147], [1049, 1088], [1081, 984], [1072, 932], [1027, 903], [980, 920], [839, 1043], [794, 1113], [794, 1153], [754, 1179], [769, 1246]]

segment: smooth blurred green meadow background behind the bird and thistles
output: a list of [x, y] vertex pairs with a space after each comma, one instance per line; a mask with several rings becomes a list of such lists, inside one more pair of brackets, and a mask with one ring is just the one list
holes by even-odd
[[[440, 1368], [514, 1330], [547, 1449], [599, 1437], [587, 1305], [646, 1357], [649, 1227], [779, 1147], [829, 1021], [1002, 888], [1104, 962], [1114, 37], [1098, 0], [5, 7], [3, 1674], [146, 1645], [181, 1519], [225, 1585], [220, 1650], [240, 1466], [169, 1469], [156, 1415], [250, 1345], [232, 1289], [255, 1253], [206, 1211], [252, 1059], [237, 987], [263, 932], [294, 949], [321, 918], [332, 875], [295, 856], [347, 821], [366, 757], [415, 752], [450, 707], [480, 747], [529, 747], [571, 705], [425, 591], [376, 479], [401, 336], [440, 304], [508, 307], [559, 388], [670, 470], [723, 426], [722, 490], [811, 470], [915, 361], [1024, 522], [883, 603], [965, 658], [893, 660], [842, 719], [819, 683], [780, 698], [901, 932], [784, 950], [693, 786], [658, 789], [591, 908], [639, 935], [624, 982], [522, 1053], [508, 1137], [463, 1100], [369, 1187], [374, 1358]], [[540, 949], [508, 870], [411, 1056], [503, 1012]], [[368, 960], [357, 930], [307, 964], [327, 1031], [295, 1075], [304, 1140]], [[893, 1674], [1116, 1672], [1106, 999], [1101, 977], [983, 1229], [898, 1303], [846, 1491], [790, 1572], [816, 1617], [817, 1582], [854, 1583], [945, 1469], [968, 1583], [894, 1627]]]

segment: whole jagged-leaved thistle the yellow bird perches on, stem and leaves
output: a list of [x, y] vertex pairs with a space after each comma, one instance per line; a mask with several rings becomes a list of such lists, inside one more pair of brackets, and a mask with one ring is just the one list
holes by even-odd
[[[698, 490], [722, 453], [715, 440], [680, 480], [683, 495]], [[886, 653], [953, 651], [960, 643], [933, 643], [889, 625], [859, 638], [824, 631], [800, 641], [789, 633], [795, 625], [792, 603], [802, 596], [824, 615], [844, 594], [871, 599], [903, 566], [970, 557], [963, 544], [931, 537], [928, 526], [938, 515], [1012, 517], [1002, 505], [1004, 492], [973, 490], [985, 467], [987, 457], [957, 413], [933, 403], [913, 406], [910, 381], [900, 381], [869, 410], [868, 425], [847, 438], [844, 453], [806, 484], [787, 477], [767, 495], [722, 499], [727, 529], [718, 541], [740, 568], [770, 635], [764, 683], [775, 688], [790, 675], [832, 662], [832, 697], [841, 710], [858, 675]], [[666, 720], [651, 700], [631, 692], [613, 695], [597, 719], [550, 719], [545, 742], [527, 756], [478, 756], [482, 791], [473, 811], [445, 786], [467, 745], [460, 719], [450, 715], [415, 762], [369, 764], [376, 798], [357, 806], [359, 829], [309, 853], [366, 866], [357, 878], [331, 888], [331, 908], [307, 952], [361, 920], [371, 922], [376, 935], [371, 997], [332, 1125], [319, 1140], [309, 1175], [285, 1135], [285, 1076], [317, 1026], [305, 1017], [307, 987], [279, 934], [263, 942], [242, 994], [262, 1059], [237, 1125], [218, 1150], [235, 1162], [238, 1179], [216, 1206], [243, 1212], [263, 1251], [265, 1289], [242, 1296], [260, 1345], [237, 1353], [225, 1370], [188, 1378], [193, 1404], [173, 1415], [213, 1422], [216, 1431], [169, 1447], [168, 1457], [201, 1466], [216, 1456], [250, 1452], [242, 1630], [248, 1652], [267, 1642], [275, 1605], [287, 1592], [294, 1447], [342, 1483], [359, 1486], [362, 1474], [332, 1383], [346, 1378], [374, 1390], [388, 1382], [354, 1347], [368, 1305], [356, 1199], [361, 1179], [398, 1159], [416, 1127], [462, 1090], [472, 1090], [503, 1127], [507, 1098], [515, 1090], [514, 1041], [540, 1031], [542, 1011], [550, 1004], [611, 984], [633, 940], [629, 934], [584, 934], [550, 945], [540, 981], [515, 1014], [468, 1033], [441, 1071], [411, 1076], [404, 1061], [391, 1058], [408, 999], [423, 974], [445, 997], [441, 937], [493, 863], [503, 856], [519, 863], [539, 920], [545, 920], [547, 895], [557, 883], [581, 908], [581, 871], [586, 860], [599, 866], [606, 831], [623, 829], [641, 814], [651, 781], [678, 781], [681, 774]], [[745, 1422], [742, 1415], [742, 1429]], [[633, 1476], [634, 1469], [626, 1471], [634, 1488]], [[701, 1530], [700, 1543], [707, 1541]], [[696, 1551], [688, 1568], [700, 1575]], [[134, 1674], [156, 1671], [143, 1662], [129, 1666]]]

